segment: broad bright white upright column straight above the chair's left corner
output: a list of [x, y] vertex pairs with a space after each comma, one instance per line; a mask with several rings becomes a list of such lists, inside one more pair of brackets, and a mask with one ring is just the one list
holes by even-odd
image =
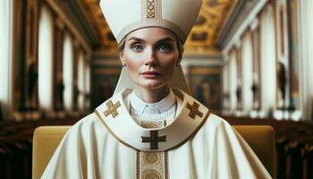
[[53, 107], [53, 21], [42, 6], [38, 25], [38, 102], [45, 111]]

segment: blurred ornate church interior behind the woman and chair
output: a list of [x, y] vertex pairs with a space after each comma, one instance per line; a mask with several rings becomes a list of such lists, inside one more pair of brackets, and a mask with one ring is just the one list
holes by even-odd
[[[203, 0], [184, 44], [193, 97], [230, 124], [275, 129], [277, 178], [313, 178], [312, 9]], [[0, 12], [0, 175], [31, 178], [34, 130], [92, 113], [122, 64], [99, 0], [2, 0]]]

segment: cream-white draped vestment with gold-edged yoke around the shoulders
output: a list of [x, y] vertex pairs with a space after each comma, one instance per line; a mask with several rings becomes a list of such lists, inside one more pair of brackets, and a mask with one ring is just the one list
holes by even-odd
[[[42, 178], [139, 178], [138, 152], [166, 152], [165, 178], [271, 178], [249, 145], [224, 119], [182, 90], [176, 117], [164, 128], [135, 123], [122, 90], [65, 134]], [[143, 137], [164, 137], [152, 147]]]

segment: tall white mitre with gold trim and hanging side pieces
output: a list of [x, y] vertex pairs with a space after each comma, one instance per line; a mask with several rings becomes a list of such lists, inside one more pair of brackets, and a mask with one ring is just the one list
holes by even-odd
[[[117, 43], [121, 43], [131, 31], [148, 27], [171, 30], [185, 43], [190, 30], [197, 20], [202, 0], [101, 0], [105, 14]], [[170, 87], [187, 93], [190, 90], [184, 79], [182, 67], [175, 68]], [[114, 94], [123, 88], [133, 88], [127, 67], [123, 67]]]

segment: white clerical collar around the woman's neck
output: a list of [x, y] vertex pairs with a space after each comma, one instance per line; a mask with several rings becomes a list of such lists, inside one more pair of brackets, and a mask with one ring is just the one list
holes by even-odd
[[173, 91], [170, 90], [165, 98], [161, 99], [157, 103], [147, 103], [138, 97], [134, 91], [131, 92], [130, 96], [131, 108], [136, 111], [137, 114], [141, 115], [156, 115], [165, 113], [171, 109], [176, 102]]

